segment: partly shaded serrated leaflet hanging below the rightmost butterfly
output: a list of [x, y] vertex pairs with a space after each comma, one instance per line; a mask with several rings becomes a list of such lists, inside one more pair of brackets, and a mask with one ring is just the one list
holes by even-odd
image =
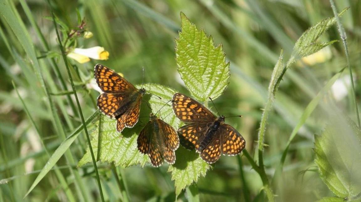
[[175, 152], [177, 160], [170, 165], [168, 171], [172, 173], [175, 185], [175, 195], [179, 195], [184, 188], [193, 182], [197, 182], [200, 176], [204, 176], [210, 165], [199, 157], [195, 151], [189, 151], [182, 146]]

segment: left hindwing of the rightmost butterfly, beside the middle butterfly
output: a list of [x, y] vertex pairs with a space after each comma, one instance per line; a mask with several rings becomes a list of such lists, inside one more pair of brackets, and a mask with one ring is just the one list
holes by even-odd
[[208, 127], [208, 123], [190, 123], [179, 128], [177, 132], [179, 136], [182, 136], [180, 138], [183, 143], [182, 146], [191, 150], [195, 148], [197, 152], [200, 152], [198, 150], [199, 144], [205, 138]]

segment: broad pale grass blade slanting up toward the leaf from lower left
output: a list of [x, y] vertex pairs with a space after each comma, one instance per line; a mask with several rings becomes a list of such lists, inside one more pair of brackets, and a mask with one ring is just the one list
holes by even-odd
[[[93, 121], [97, 116], [99, 116], [100, 111], [97, 110], [95, 111], [86, 121], [86, 124], [89, 124], [91, 121]], [[74, 142], [75, 139], [77, 139], [79, 133], [83, 130], [83, 124], [80, 125], [77, 129], [75, 129], [75, 131], [64, 140], [64, 142], [62, 142], [60, 144], [60, 146], [55, 150], [55, 152], [53, 153], [53, 155], [50, 157], [50, 159], [48, 160], [48, 162], [45, 164], [45, 166], [43, 167], [42, 171], [40, 171], [39, 175], [36, 177], [36, 179], [34, 180], [34, 182], [32, 183], [31, 187], [29, 188], [29, 190], [27, 191], [27, 193], [25, 194], [25, 197], [31, 192], [32, 189], [35, 188], [35, 186], [40, 182], [40, 180], [42, 180], [44, 178], [44, 176], [52, 169], [52, 167], [56, 164], [56, 162], [60, 159], [60, 157], [62, 155], [64, 155], [65, 151], [68, 150], [68, 148], [70, 147], [71, 143]]]

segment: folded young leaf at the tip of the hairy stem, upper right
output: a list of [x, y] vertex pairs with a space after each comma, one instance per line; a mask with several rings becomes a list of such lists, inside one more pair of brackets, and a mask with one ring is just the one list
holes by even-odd
[[[341, 16], [348, 8], [343, 9], [339, 16]], [[288, 61], [288, 64], [291, 64], [295, 61], [295, 58], [304, 57], [321, 50], [322, 48], [336, 42], [337, 40], [319, 43], [317, 39], [322, 35], [327, 29], [329, 29], [333, 24], [336, 23], [335, 18], [326, 18], [318, 22], [316, 25], [307, 29], [300, 38], [296, 41], [295, 46], [293, 47], [293, 52], [291, 59]], [[288, 66], [288, 65], [287, 65]]]

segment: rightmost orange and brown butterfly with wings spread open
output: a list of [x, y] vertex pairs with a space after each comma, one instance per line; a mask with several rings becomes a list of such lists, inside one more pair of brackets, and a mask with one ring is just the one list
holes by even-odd
[[173, 95], [172, 105], [174, 114], [188, 123], [178, 129], [181, 144], [188, 149], [193, 146], [205, 162], [212, 164], [221, 153], [233, 156], [244, 149], [244, 138], [224, 123], [224, 116], [217, 118], [199, 102], [181, 93]]

